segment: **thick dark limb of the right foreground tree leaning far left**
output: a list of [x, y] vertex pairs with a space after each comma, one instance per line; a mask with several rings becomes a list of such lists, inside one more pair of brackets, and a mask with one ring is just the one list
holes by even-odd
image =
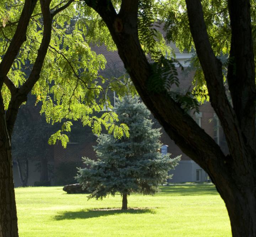
[[[140, 97], [154, 117], [165, 128], [170, 138], [209, 174], [219, 170], [218, 181], [211, 177], [214, 183], [220, 182], [220, 180], [221, 182], [228, 180], [226, 172], [223, 171], [231, 169], [232, 164], [214, 140], [166, 93], [152, 93], [148, 89], [147, 82], [151, 75], [151, 66], [138, 39], [137, 15], [131, 14], [133, 19], [130, 19], [130, 17], [123, 18], [121, 13], [116, 15], [111, 6], [108, 8], [103, 6], [102, 1], [98, 1], [98, 5], [88, 3], [88, 1], [85, 2], [92, 6], [105, 21], [118, 48], [118, 54]], [[133, 4], [134, 2], [136, 1], [131, 2], [132, 8], [123, 3], [121, 12], [125, 12], [126, 6], [129, 11], [138, 12], [138, 6]], [[114, 22], [117, 18], [123, 26], [122, 31], [116, 30]]]

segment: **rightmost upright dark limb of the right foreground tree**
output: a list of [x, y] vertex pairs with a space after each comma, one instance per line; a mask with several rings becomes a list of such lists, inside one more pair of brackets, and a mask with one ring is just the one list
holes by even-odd
[[228, 66], [229, 90], [246, 143], [256, 151], [256, 89], [250, 1], [229, 0], [228, 9], [232, 32]]

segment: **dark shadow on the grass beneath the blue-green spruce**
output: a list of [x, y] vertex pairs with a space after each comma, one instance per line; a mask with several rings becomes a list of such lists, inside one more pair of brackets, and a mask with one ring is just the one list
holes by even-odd
[[64, 211], [54, 217], [55, 220], [67, 220], [67, 219], [89, 219], [99, 216], [109, 216], [117, 214], [144, 214], [155, 213], [153, 208], [130, 208], [128, 210], [121, 210], [118, 208], [106, 208], [106, 209], [84, 209], [80, 211]]

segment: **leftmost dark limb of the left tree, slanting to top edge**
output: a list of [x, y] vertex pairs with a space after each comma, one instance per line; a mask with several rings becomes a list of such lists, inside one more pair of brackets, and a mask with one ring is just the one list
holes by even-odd
[[26, 41], [28, 23], [33, 13], [34, 7], [36, 6], [36, 2], [37, 0], [25, 0], [16, 31], [0, 63], [0, 88], [4, 83], [5, 76], [9, 72], [21, 45]]

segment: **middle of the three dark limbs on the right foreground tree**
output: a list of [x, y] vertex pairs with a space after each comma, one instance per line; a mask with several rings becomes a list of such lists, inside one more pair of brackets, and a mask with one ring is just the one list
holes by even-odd
[[244, 140], [239, 129], [235, 111], [231, 107], [225, 94], [223, 85], [222, 64], [215, 57], [209, 42], [203, 10], [200, 0], [186, 0], [190, 31], [196, 46], [197, 55], [201, 63], [210, 96], [210, 102], [219, 117], [226, 136], [229, 151], [236, 157], [242, 157]]

